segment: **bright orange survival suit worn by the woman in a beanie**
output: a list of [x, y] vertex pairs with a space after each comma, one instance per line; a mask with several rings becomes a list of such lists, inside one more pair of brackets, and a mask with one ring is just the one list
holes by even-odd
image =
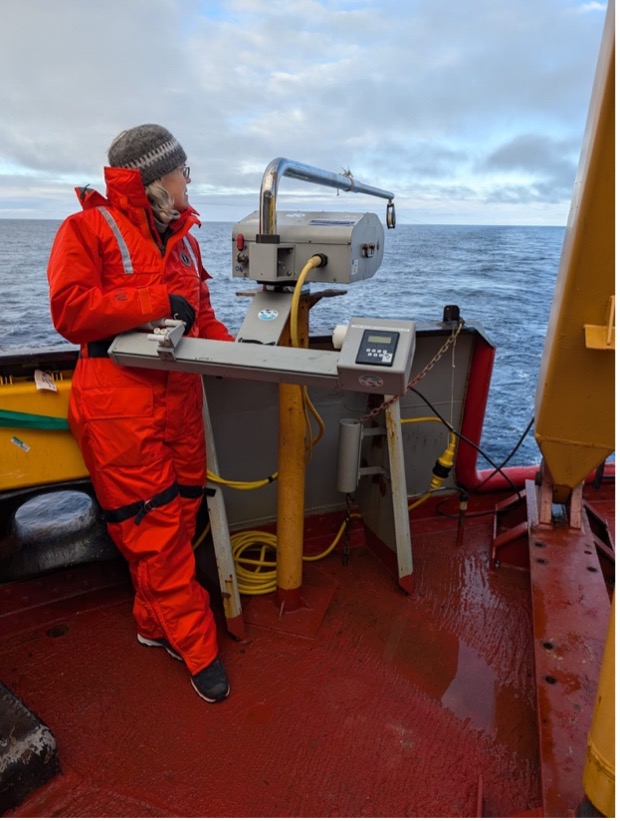
[[78, 190], [83, 211], [60, 227], [49, 261], [54, 326], [80, 344], [69, 424], [129, 563], [134, 616], [145, 638], [166, 638], [191, 675], [218, 654], [209, 596], [191, 540], [206, 483], [202, 385], [196, 374], [124, 368], [113, 337], [170, 316], [170, 294], [192, 305], [190, 336], [232, 340], [216, 318], [197, 240], [184, 211], [161, 240], [140, 172], [106, 168], [107, 199]]

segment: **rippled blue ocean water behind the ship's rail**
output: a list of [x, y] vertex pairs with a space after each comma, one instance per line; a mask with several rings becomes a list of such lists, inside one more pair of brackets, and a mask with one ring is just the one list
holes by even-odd
[[[0, 220], [0, 350], [66, 344], [52, 326], [46, 278], [59, 225]], [[210, 222], [195, 233], [213, 276], [212, 303], [235, 333], [250, 303], [236, 294], [255, 286], [232, 277], [232, 227]], [[503, 462], [534, 412], [563, 237], [559, 227], [398, 225], [386, 231], [375, 276], [319, 301], [310, 329], [331, 331], [355, 315], [433, 322], [441, 320], [444, 305], [458, 305], [466, 322], [481, 325], [497, 347], [481, 447]], [[508, 464], [539, 461], [530, 431]], [[488, 463], [480, 458], [479, 466]]]

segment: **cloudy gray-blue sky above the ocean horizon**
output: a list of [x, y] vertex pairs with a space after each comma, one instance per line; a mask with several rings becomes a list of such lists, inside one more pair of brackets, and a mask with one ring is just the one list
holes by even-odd
[[[0, 217], [78, 210], [113, 137], [156, 122], [204, 220], [257, 208], [287, 157], [393, 191], [400, 222], [563, 225], [606, 6], [0, 0]], [[385, 207], [292, 179], [278, 204]]]

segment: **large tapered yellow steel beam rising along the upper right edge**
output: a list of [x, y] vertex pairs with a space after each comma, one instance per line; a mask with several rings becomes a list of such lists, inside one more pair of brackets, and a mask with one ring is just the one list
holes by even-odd
[[536, 394], [536, 441], [561, 503], [615, 448], [614, 31], [610, 2]]

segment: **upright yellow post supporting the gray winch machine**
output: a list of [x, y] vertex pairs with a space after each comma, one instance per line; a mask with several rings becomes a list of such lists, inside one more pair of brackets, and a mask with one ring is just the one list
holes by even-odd
[[[308, 305], [299, 308], [299, 344], [308, 345]], [[281, 345], [290, 344], [285, 332]], [[276, 588], [280, 612], [302, 606], [306, 418], [301, 385], [280, 385]]]

